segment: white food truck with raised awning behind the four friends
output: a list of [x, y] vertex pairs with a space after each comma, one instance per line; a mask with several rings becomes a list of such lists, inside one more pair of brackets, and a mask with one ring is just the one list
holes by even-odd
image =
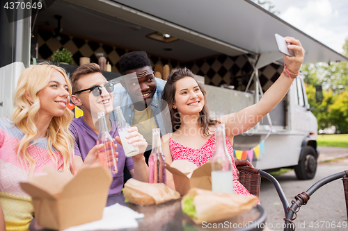
[[[283, 55], [275, 33], [301, 41], [304, 63], [347, 60], [249, 0], [40, 2], [44, 8], [38, 14], [31, 9], [29, 17], [26, 9], [1, 8], [0, 116], [13, 109], [22, 70], [62, 48], [73, 53], [74, 65], [68, 66], [74, 68], [80, 57], [97, 62], [96, 53], [104, 53], [112, 66], [111, 76], [105, 74], [108, 80], [120, 76], [118, 58], [127, 51], [146, 51], [155, 69], [187, 66], [203, 76], [209, 110], [216, 117], [256, 103], [278, 78]], [[299, 76], [269, 116], [235, 137], [236, 155], [242, 152], [245, 158], [247, 151], [247, 160], [252, 158], [259, 169], [294, 167], [299, 179], [313, 178], [317, 120], [309, 108]]]

